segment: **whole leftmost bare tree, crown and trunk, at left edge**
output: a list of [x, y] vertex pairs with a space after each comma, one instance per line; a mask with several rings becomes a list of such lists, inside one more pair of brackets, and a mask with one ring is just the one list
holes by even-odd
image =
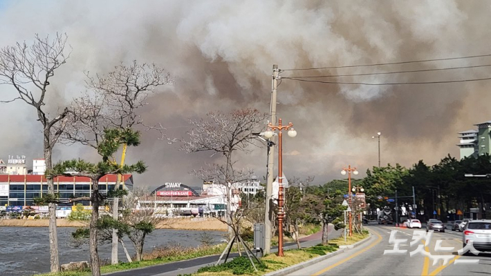
[[[17, 97], [2, 101], [24, 101], [35, 108], [37, 121], [43, 127], [43, 153], [46, 161], [46, 169], [53, 168], [52, 153], [59, 136], [66, 126], [68, 108], [50, 114], [46, 107], [46, 93], [50, 85], [50, 78], [55, 71], [66, 63], [70, 52], [66, 49], [66, 34], [56, 34], [50, 37], [39, 37], [36, 34], [32, 44], [16, 43], [0, 50], [0, 84], [8, 84], [17, 92]], [[54, 130], [55, 126], [57, 130]], [[54, 199], [53, 177], [47, 176], [48, 196]], [[59, 271], [59, 254], [56, 230], [56, 206], [48, 204], [49, 212], [49, 244], [50, 244], [50, 268], [51, 272]]]

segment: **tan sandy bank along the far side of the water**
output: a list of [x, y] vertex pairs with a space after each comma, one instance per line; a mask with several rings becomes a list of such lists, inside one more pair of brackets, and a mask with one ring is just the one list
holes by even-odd
[[[0, 219], [1, 226], [17, 227], [48, 227], [48, 219]], [[68, 221], [67, 219], [57, 219], [58, 227], [81, 227], [85, 224], [78, 221]], [[166, 219], [158, 224], [158, 229], [182, 229], [182, 230], [220, 230], [226, 231], [227, 226], [218, 219], [214, 218], [183, 218]]]

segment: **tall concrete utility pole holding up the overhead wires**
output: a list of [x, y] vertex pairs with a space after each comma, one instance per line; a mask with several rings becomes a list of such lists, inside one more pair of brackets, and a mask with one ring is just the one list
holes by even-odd
[[[275, 64], [272, 66], [272, 84], [271, 84], [271, 106], [270, 106], [270, 123], [276, 124], [276, 95], [278, 87], [278, 66]], [[275, 139], [271, 137], [270, 141]], [[274, 141], [272, 141], [274, 142]], [[264, 254], [270, 254], [271, 250], [271, 236], [272, 236], [272, 181], [274, 179], [274, 166], [275, 166], [275, 144], [270, 143], [268, 156], [268, 182], [266, 183], [266, 212], [264, 215]], [[281, 175], [279, 176], [281, 177]]]

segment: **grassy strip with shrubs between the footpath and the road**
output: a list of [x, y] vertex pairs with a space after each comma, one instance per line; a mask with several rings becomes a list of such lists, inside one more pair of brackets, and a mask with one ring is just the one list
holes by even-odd
[[221, 264], [219, 266], [207, 266], [200, 268], [197, 273], [192, 276], [232, 276], [232, 275], [245, 275], [245, 276], [259, 276], [272, 271], [300, 264], [313, 259], [326, 253], [331, 253], [342, 245], [354, 244], [369, 236], [367, 231], [364, 233], [353, 233], [353, 237], [349, 237], [344, 242], [344, 238], [340, 237], [329, 241], [328, 246], [317, 245], [311, 248], [302, 248], [295, 250], [286, 250], [284, 257], [278, 257], [277, 255], [267, 255], [261, 258], [261, 264], [256, 262], [257, 271], [250, 265], [250, 261], [247, 257], [237, 257], [231, 262]]

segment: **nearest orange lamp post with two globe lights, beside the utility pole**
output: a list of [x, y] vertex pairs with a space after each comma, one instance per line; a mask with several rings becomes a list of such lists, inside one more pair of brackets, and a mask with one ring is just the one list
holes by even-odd
[[268, 130], [264, 132], [264, 137], [270, 139], [274, 135], [274, 130], [278, 130], [278, 256], [283, 257], [283, 219], [285, 217], [283, 204], [283, 153], [281, 148], [281, 130], [288, 130], [288, 136], [297, 136], [297, 131], [294, 130], [292, 123], [288, 123], [286, 126], [281, 125], [281, 119], [278, 119], [278, 126], [268, 124]]

